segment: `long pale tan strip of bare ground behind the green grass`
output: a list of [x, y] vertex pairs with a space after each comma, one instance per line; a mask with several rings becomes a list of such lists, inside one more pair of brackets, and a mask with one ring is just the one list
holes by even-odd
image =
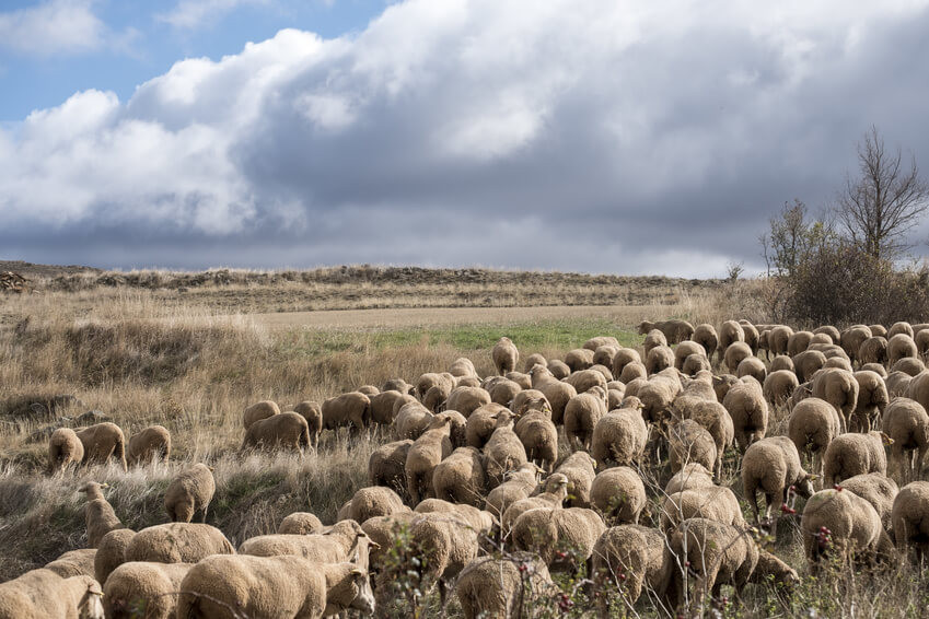
[[307, 327], [321, 329], [402, 328], [440, 325], [508, 324], [560, 318], [601, 318], [632, 325], [648, 315], [641, 305], [584, 305], [547, 307], [417, 307], [404, 310], [339, 310], [249, 314], [270, 328]]

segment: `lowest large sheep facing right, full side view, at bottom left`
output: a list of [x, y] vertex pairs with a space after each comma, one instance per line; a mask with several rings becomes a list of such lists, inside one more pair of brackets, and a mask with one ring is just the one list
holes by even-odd
[[302, 557], [210, 557], [181, 582], [177, 617], [328, 617], [374, 611], [368, 572]]

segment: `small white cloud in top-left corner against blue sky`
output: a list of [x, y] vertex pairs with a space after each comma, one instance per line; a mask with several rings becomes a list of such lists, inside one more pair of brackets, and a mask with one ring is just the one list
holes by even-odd
[[48, 0], [0, 13], [0, 46], [22, 54], [51, 56], [97, 49], [104, 45], [106, 32], [93, 12], [93, 0]]

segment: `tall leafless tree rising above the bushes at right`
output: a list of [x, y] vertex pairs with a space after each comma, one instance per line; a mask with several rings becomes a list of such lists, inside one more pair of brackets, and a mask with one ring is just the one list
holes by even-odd
[[879, 259], [894, 259], [911, 245], [906, 233], [929, 209], [929, 185], [919, 178], [916, 159], [903, 161], [899, 148], [884, 149], [876, 127], [858, 143], [861, 176], [846, 178], [836, 219], [851, 240]]

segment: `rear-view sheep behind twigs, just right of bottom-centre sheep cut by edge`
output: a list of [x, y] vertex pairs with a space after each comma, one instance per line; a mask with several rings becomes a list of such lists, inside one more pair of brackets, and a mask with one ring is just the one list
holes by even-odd
[[[665, 550], [665, 538], [653, 528], [637, 524], [614, 526], [603, 532], [593, 547], [591, 575], [594, 582], [616, 586], [630, 608], [645, 587], [662, 600], [673, 570], [671, 553]], [[607, 606], [611, 597], [597, 596], [600, 617], [611, 616]]]

